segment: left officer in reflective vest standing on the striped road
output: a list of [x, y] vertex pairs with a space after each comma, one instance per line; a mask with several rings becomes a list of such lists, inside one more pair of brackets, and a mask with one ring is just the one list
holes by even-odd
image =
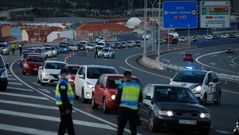
[[67, 69], [62, 69], [60, 79], [56, 86], [55, 100], [60, 110], [61, 122], [58, 135], [64, 135], [66, 129], [68, 135], [75, 135], [72, 121], [72, 105], [74, 101], [74, 93], [70, 83], [66, 79]]

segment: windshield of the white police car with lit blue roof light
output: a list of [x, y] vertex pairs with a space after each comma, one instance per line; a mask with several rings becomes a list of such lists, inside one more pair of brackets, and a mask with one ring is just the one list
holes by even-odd
[[188, 82], [202, 84], [206, 72], [203, 71], [181, 71], [173, 79], [175, 82]]

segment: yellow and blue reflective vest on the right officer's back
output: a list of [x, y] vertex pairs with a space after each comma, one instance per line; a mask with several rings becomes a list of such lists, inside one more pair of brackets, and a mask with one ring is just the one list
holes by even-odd
[[140, 87], [134, 82], [125, 82], [122, 84], [122, 96], [120, 107], [126, 107], [132, 110], [138, 110]]

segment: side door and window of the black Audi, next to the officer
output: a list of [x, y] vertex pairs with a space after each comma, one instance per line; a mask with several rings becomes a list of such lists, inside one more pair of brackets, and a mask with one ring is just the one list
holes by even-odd
[[153, 98], [153, 90], [154, 86], [148, 85], [145, 87], [144, 90], [144, 99], [140, 106], [140, 115], [145, 119], [148, 120], [149, 117], [149, 111], [151, 109], [151, 102]]

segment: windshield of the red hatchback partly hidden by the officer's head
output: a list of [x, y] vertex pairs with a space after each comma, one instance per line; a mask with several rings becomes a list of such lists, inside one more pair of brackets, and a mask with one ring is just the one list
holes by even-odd
[[[142, 88], [142, 84], [140, 83], [138, 79], [133, 78], [131, 81], [137, 82]], [[123, 83], [123, 77], [109, 77], [107, 81], [107, 88], [117, 89], [119, 85], [121, 85], [122, 83]]]

